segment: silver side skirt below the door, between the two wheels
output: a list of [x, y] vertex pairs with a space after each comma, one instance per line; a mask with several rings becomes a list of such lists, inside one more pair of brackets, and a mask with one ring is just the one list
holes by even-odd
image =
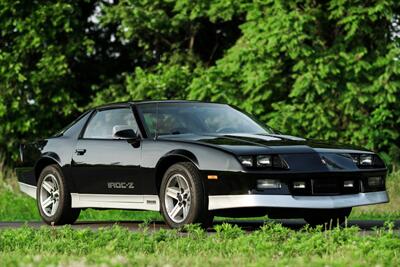
[[111, 195], [111, 194], [78, 194], [71, 193], [72, 208], [104, 208], [160, 210], [157, 195]]

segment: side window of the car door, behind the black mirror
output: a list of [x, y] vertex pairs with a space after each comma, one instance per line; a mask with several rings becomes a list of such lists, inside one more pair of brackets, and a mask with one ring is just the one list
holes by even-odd
[[98, 111], [89, 121], [83, 138], [112, 139], [115, 125], [128, 125], [137, 132], [138, 127], [130, 108]]

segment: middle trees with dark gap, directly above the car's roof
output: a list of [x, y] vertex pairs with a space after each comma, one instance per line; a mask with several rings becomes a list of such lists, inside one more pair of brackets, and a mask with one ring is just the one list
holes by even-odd
[[115, 25], [117, 42], [136, 44], [145, 64], [122, 73], [122, 82], [102, 88], [94, 103], [187, 98], [193, 78], [239, 38], [244, 6], [233, 0], [123, 0], [103, 5], [101, 25]]

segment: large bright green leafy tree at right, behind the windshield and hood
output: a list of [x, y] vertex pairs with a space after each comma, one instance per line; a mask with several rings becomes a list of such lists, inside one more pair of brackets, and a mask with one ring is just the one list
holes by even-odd
[[[263, 1], [190, 97], [238, 105], [271, 126], [398, 159], [397, 1]], [[396, 20], [397, 19], [397, 20]]]

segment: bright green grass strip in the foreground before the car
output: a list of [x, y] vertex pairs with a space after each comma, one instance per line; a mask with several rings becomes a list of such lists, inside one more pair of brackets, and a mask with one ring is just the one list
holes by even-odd
[[190, 226], [130, 232], [70, 227], [0, 231], [3, 266], [399, 266], [400, 237], [387, 225], [369, 235], [356, 227], [290, 230], [266, 224], [245, 233], [229, 224], [207, 235]]

